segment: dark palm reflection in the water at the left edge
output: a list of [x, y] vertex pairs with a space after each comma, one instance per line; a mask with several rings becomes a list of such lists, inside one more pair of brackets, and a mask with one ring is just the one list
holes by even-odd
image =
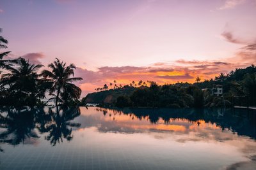
[[35, 110], [31, 108], [19, 110], [6, 108], [6, 110], [1, 110], [1, 112], [3, 111], [6, 111], [7, 115], [0, 114], [0, 127], [6, 131], [0, 133], [1, 142], [19, 145], [25, 139], [39, 138], [33, 130], [35, 128]]

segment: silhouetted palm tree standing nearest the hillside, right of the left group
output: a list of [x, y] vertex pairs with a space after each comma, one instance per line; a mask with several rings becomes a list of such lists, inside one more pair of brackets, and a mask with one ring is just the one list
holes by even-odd
[[[55, 106], [58, 106], [59, 101], [62, 101], [62, 103], [67, 103], [73, 99], [77, 101], [81, 95], [81, 89], [72, 82], [83, 80], [83, 78], [70, 78], [70, 76], [74, 76], [74, 69], [76, 69], [76, 66], [74, 66], [74, 64], [66, 66], [65, 62], [60, 62], [60, 60], [56, 58], [56, 60], [49, 64], [48, 67], [51, 71], [44, 69], [40, 76], [44, 77], [45, 83], [51, 85], [49, 93], [54, 97], [49, 100], [54, 100]], [[56, 94], [54, 94], [55, 92]], [[60, 96], [62, 99], [60, 99]]]

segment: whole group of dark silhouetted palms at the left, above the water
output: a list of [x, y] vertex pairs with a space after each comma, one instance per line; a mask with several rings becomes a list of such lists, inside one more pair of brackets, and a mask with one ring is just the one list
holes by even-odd
[[[0, 29], [0, 32], [2, 30]], [[0, 48], [7, 48], [8, 40], [0, 36]], [[72, 106], [79, 103], [81, 89], [74, 82], [74, 64], [67, 65], [56, 58], [48, 64], [32, 64], [22, 57], [5, 59], [10, 52], [0, 53], [0, 105], [45, 106], [49, 101], [55, 106]], [[51, 98], [46, 100], [46, 96]]]

